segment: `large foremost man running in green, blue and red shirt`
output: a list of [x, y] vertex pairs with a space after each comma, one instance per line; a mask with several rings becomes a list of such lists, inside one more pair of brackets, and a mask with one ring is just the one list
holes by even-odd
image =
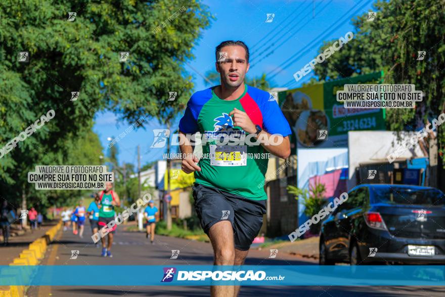
[[[242, 41], [224, 41], [215, 54], [221, 84], [193, 94], [179, 123], [185, 141], [182, 169], [194, 172], [195, 209], [212, 243], [214, 264], [242, 265], [265, 214], [267, 152], [288, 158], [291, 130], [268, 92], [244, 84], [249, 70], [247, 46]], [[210, 155], [199, 162], [185, 137], [197, 132], [203, 135], [204, 156]], [[221, 145], [232, 135], [260, 145]], [[211, 286], [210, 291], [212, 296], [237, 296], [239, 286]]]

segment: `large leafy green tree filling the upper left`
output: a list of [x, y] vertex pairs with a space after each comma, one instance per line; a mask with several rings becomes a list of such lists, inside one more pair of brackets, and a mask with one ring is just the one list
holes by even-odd
[[[183, 6], [186, 11], [171, 17]], [[71, 11], [77, 16], [68, 22]], [[193, 88], [183, 62], [193, 58], [195, 40], [211, 19], [200, 1], [3, 1], [0, 146], [48, 110], [56, 115], [0, 158], [2, 197], [18, 205], [23, 192], [30, 204], [49, 205], [84, 195], [35, 191], [27, 173], [35, 165], [98, 164], [102, 148], [91, 127], [99, 110], [129, 123], [174, 117]], [[19, 51], [29, 52], [29, 63], [17, 61]], [[119, 61], [120, 51], [130, 53], [128, 61]], [[176, 100], [166, 100], [170, 91]], [[71, 92], [80, 92], [76, 101]]]

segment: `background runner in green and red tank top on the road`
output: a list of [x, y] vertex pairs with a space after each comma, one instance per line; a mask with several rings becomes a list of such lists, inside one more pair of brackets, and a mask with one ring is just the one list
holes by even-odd
[[[101, 207], [99, 208], [99, 228], [106, 227], [108, 223], [114, 220], [114, 206], [119, 206], [120, 199], [116, 192], [113, 192], [113, 184], [107, 183], [106, 189], [101, 192], [100, 195], [100, 203]], [[111, 228], [108, 233], [108, 246], [106, 245], [105, 237], [101, 238], [102, 241], [102, 257], [110, 257], [111, 254], [111, 246], [113, 244], [113, 235], [116, 226]]]

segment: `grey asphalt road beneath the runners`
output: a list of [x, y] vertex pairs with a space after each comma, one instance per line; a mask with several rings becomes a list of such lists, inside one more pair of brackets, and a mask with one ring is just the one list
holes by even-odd
[[[43, 265], [212, 265], [213, 253], [209, 243], [180, 238], [156, 236], [150, 244], [144, 233], [125, 232], [115, 234], [113, 258], [100, 257], [100, 248], [91, 240], [90, 226], [85, 226], [84, 238], [71, 231], [59, 234], [49, 248]], [[170, 259], [171, 250], [179, 249], [178, 259]], [[71, 250], [79, 250], [79, 256], [70, 260]], [[246, 265], [317, 265], [314, 260], [297, 258], [278, 253], [269, 259], [268, 250], [251, 250]], [[124, 273], [131, 273], [126, 271]], [[69, 275], [67, 277], [75, 277]], [[150, 276], [147, 276], [150, 277]], [[157, 276], [156, 276], [157, 277]], [[98, 276], [98, 286], [34, 286], [28, 296], [208, 296], [208, 286], [116, 286], [112, 280]], [[107, 285], [99, 285], [107, 284]], [[443, 296], [443, 287], [419, 286], [244, 286], [239, 296]]]

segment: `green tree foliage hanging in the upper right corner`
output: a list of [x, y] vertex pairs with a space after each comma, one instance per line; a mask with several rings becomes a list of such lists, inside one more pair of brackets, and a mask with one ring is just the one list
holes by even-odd
[[[354, 38], [315, 73], [320, 81], [329, 81], [383, 70], [383, 83], [415, 84], [425, 94], [423, 101], [416, 109], [387, 109], [387, 124], [392, 131], [422, 128], [427, 117], [445, 111], [445, 1], [393, 0], [374, 6], [375, 20], [368, 22], [367, 13], [353, 19]], [[417, 61], [418, 51], [426, 51], [423, 61]], [[438, 142], [443, 148], [444, 129], [439, 129]]]

